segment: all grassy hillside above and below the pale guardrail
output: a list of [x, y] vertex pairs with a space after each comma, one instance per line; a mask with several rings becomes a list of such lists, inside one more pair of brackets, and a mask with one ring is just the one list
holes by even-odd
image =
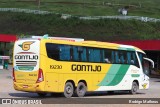
[[[120, 15], [119, 8], [128, 8], [128, 15], [160, 18], [160, 0], [0, 0], [1, 8], [40, 9], [78, 16]], [[0, 12], [0, 32], [17, 35], [78, 37], [87, 40], [117, 41], [160, 39], [160, 22], [137, 20], [61, 19], [60, 15], [34, 15]]]

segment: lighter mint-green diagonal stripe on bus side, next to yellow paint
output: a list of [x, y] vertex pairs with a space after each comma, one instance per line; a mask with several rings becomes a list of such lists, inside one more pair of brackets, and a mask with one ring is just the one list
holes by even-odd
[[112, 65], [108, 71], [108, 73], [105, 75], [104, 79], [98, 84], [98, 86], [107, 86], [116, 76], [117, 72], [119, 71], [121, 65]]

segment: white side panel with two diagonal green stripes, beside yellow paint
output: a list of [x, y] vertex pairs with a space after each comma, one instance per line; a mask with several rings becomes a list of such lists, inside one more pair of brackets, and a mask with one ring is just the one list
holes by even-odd
[[[102, 78], [96, 91], [130, 90], [134, 80], [139, 82], [139, 77], [132, 77], [133, 74], [139, 74], [139, 70], [135, 66], [113, 65], [108, 74]], [[134, 73], [135, 71], [137, 73]]]

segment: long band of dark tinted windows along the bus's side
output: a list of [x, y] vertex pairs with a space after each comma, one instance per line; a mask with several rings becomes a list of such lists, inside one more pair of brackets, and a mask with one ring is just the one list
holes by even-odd
[[[96, 62], [112, 64], [131, 64], [139, 67], [136, 53], [133, 51], [111, 50], [71, 45], [46, 44], [49, 58], [59, 61]], [[142, 54], [139, 54], [143, 60]]]

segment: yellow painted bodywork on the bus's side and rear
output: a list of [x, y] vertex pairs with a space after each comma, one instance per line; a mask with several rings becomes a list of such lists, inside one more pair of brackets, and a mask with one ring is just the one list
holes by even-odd
[[[46, 43], [55, 43], [55, 44], [68, 44], [74, 46], [89, 46], [89, 47], [100, 47], [107, 49], [118, 49], [118, 44], [105, 43], [105, 42], [94, 42], [94, 41], [84, 41], [84, 42], [69, 42], [63, 40], [51, 40], [51, 39], [42, 39], [40, 40], [40, 60], [39, 68], [43, 70], [44, 81], [41, 83], [36, 83], [38, 77], [38, 71], [34, 72], [19, 72], [15, 71], [15, 78], [17, 79], [14, 82], [14, 88], [21, 91], [29, 92], [63, 92], [66, 81], [72, 80], [77, 86], [78, 82], [85, 80], [87, 83], [88, 91], [94, 91], [99, 88], [99, 84], [112, 64], [105, 63], [86, 63], [86, 62], [65, 62], [65, 61], [55, 61], [47, 57], [46, 53]], [[25, 43], [26, 46], [23, 46], [24, 50], [28, 50], [31, 43]], [[72, 71], [72, 64], [80, 65], [100, 65], [102, 70], [101, 72], [92, 72], [92, 71]], [[62, 69], [50, 69], [50, 65], [61, 65]], [[13, 65], [14, 66], [14, 65]], [[34, 76], [29, 76], [30, 74]], [[27, 85], [28, 88], [23, 88], [24, 85]], [[143, 87], [146, 87], [144, 84]]]

